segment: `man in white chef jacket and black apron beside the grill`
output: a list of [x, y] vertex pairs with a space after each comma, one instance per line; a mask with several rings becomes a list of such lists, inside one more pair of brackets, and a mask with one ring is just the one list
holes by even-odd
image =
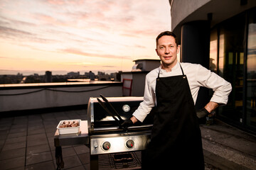
[[[200, 64], [179, 63], [176, 35], [170, 31], [156, 38], [161, 66], [146, 75], [144, 101], [123, 125], [143, 122], [154, 111], [151, 142], [142, 169], [204, 169], [198, 118], [228, 102], [230, 83]], [[200, 86], [213, 89], [209, 103], [196, 113], [194, 103]]]

